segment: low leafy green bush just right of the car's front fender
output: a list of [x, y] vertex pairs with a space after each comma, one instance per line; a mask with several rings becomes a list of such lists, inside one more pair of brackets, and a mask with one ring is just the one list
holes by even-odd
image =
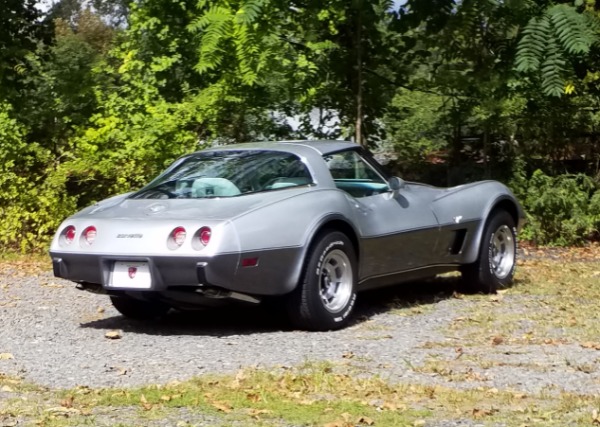
[[580, 244], [598, 232], [600, 192], [590, 177], [551, 177], [538, 169], [530, 179], [521, 176], [511, 186], [527, 213], [523, 239], [565, 246]]

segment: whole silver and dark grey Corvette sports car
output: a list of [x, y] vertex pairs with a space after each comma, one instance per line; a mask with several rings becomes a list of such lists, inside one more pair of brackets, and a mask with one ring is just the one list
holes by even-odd
[[296, 327], [330, 330], [366, 289], [459, 270], [495, 292], [512, 280], [523, 219], [499, 182], [405, 182], [349, 142], [251, 143], [184, 156], [83, 209], [50, 255], [56, 276], [127, 317], [279, 299]]

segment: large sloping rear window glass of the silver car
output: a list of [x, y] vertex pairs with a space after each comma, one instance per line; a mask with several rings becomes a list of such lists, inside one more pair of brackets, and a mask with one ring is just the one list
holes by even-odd
[[233, 197], [312, 184], [306, 165], [278, 151], [208, 151], [181, 160], [132, 199]]

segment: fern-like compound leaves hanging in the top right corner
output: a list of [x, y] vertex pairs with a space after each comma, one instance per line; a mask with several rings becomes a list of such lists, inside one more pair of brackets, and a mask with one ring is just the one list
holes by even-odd
[[598, 42], [598, 23], [588, 13], [558, 4], [529, 20], [517, 47], [517, 71], [538, 72], [546, 95], [564, 93], [567, 62]]

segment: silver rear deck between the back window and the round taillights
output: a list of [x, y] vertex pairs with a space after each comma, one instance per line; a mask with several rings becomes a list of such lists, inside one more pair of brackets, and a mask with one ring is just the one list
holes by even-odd
[[201, 199], [130, 199], [127, 195], [106, 199], [72, 218], [98, 219], [204, 219], [222, 221], [310, 191], [291, 188], [236, 197]]

